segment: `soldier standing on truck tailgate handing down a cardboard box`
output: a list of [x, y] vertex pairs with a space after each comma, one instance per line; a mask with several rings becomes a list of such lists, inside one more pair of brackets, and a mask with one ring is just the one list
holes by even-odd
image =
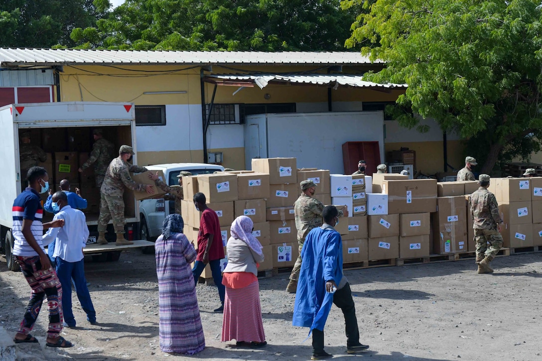
[[113, 218], [113, 227], [117, 234], [117, 246], [133, 244], [124, 238], [124, 200], [122, 195], [124, 189], [130, 188], [134, 191], [146, 191], [153, 194], [154, 190], [150, 184], [137, 184], [130, 177], [129, 172], [146, 172], [145, 167], [128, 164], [128, 160], [134, 154], [131, 146], [122, 145], [119, 149], [119, 157], [111, 161], [105, 173], [104, 183], [101, 186], [100, 216], [98, 218], [98, 243], [107, 244], [105, 232], [107, 223]]

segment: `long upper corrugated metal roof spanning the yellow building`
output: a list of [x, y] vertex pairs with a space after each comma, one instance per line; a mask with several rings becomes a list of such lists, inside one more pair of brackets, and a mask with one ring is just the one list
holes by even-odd
[[[382, 61], [377, 61], [383, 63]], [[370, 64], [354, 51], [159, 51], [0, 48], [0, 65]]]

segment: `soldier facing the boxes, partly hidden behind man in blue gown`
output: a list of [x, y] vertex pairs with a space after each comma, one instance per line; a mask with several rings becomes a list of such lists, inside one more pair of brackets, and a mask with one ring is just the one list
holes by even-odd
[[[294, 203], [295, 212], [295, 228], [298, 230], [298, 244], [299, 244], [299, 256], [295, 261], [292, 274], [290, 275], [290, 281], [286, 287], [286, 292], [295, 293], [298, 289], [299, 272], [301, 270], [301, 250], [305, 243], [305, 237], [307, 234], [316, 227], [320, 227], [324, 224], [322, 220], [322, 211], [324, 210], [324, 204], [313, 198], [316, 191], [316, 184], [310, 179], [302, 181], [301, 196]], [[348, 216], [348, 210], [339, 210], [339, 217]]]

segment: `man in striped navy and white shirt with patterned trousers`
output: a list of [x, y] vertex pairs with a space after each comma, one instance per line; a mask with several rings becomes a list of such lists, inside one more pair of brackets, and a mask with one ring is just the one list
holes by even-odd
[[21, 266], [24, 278], [32, 288], [27, 311], [15, 334], [15, 343], [37, 343], [30, 331], [34, 328], [40, 313], [43, 298], [47, 295], [49, 309], [49, 328], [47, 343], [49, 347], [72, 347], [60, 332], [62, 331], [62, 287], [51, 267], [49, 257], [43, 250], [43, 230], [63, 227], [64, 220], [43, 223], [43, 208], [40, 193], [49, 189], [49, 176], [42, 167], [31, 167], [27, 173], [28, 188], [13, 202], [13, 236], [15, 243], [13, 254]]

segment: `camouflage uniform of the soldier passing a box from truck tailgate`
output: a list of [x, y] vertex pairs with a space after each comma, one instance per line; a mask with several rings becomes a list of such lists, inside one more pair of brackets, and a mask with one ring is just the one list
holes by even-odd
[[145, 167], [130, 165], [119, 156], [112, 160], [107, 167], [104, 183], [101, 185], [100, 216], [98, 218], [98, 231], [105, 233], [107, 223], [113, 218], [115, 233], [124, 234], [124, 189], [145, 191], [147, 184], [137, 184], [130, 177], [129, 172], [146, 172]]

